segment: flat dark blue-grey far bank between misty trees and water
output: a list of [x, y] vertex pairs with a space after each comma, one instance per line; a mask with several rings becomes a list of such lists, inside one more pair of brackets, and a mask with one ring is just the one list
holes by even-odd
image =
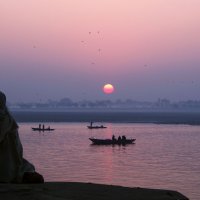
[[17, 122], [104, 122], [200, 125], [200, 112], [11, 111]]

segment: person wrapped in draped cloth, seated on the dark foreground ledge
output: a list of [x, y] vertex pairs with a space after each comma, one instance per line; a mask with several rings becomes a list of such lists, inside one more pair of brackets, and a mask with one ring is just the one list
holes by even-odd
[[6, 106], [6, 96], [0, 91], [0, 183], [43, 183], [42, 175], [23, 158], [18, 125]]

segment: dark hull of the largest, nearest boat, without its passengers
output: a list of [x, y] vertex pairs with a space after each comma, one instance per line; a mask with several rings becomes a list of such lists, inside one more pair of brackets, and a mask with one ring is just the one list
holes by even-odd
[[125, 140], [112, 140], [112, 139], [96, 139], [89, 138], [93, 144], [97, 145], [126, 145], [126, 144], [134, 144], [136, 139], [125, 139]]

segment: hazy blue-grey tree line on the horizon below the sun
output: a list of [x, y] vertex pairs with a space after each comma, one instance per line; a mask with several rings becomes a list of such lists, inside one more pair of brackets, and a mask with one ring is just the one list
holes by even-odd
[[150, 101], [136, 101], [132, 99], [121, 100], [81, 100], [72, 101], [70, 98], [62, 98], [58, 101], [48, 100], [47, 102], [32, 102], [32, 103], [15, 103], [9, 104], [9, 107], [19, 109], [59, 109], [59, 108], [79, 108], [79, 109], [92, 109], [92, 108], [121, 108], [121, 109], [199, 109], [200, 101], [188, 100], [171, 102], [168, 99], [158, 99], [155, 102]]

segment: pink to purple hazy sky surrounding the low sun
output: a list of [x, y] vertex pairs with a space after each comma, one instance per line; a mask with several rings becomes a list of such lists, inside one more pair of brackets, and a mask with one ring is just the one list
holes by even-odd
[[199, 0], [2, 0], [1, 90], [27, 101], [200, 99], [199, 8]]

